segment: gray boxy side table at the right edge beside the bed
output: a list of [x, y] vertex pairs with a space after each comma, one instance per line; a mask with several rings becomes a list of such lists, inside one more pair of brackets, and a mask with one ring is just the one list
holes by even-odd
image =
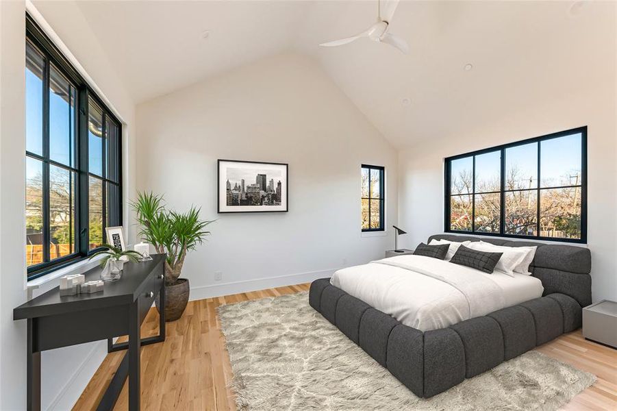
[[583, 337], [617, 348], [617, 302], [602, 300], [583, 308]]

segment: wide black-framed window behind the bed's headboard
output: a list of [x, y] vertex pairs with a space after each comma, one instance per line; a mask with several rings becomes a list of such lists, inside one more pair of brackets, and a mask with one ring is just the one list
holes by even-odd
[[587, 241], [587, 127], [445, 159], [445, 231]]

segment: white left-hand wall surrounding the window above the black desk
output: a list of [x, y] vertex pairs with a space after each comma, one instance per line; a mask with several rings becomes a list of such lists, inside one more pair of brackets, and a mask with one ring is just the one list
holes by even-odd
[[[35, 6], [29, 7], [42, 25], [47, 27], [49, 23], [47, 28], [51, 27], [64, 42], [100, 88], [102, 97], [112, 103], [116, 114], [126, 123], [124, 188], [125, 193], [134, 190], [134, 162], [131, 161], [134, 103], [118, 81], [97, 38], [72, 1], [36, 1]], [[13, 308], [26, 300], [25, 12], [24, 1], [0, 1], [0, 410], [3, 411], [24, 410], [26, 401], [25, 321], [12, 320]], [[129, 241], [131, 238], [134, 234], [129, 232]], [[44, 284], [35, 295], [57, 285], [57, 282]], [[71, 409], [105, 354], [103, 342], [42, 353], [42, 408]]]

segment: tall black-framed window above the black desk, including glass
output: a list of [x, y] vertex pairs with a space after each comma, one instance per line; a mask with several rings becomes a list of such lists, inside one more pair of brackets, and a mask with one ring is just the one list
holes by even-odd
[[28, 279], [86, 258], [122, 224], [121, 123], [26, 17]]

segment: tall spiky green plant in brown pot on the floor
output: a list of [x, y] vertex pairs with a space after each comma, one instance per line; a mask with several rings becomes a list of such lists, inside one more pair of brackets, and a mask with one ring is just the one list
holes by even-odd
[[[200, 208], [191, 206], [185, 213], [167, 210], [162, 195], [138, 192], [132, 203], [140, 225], [139, 236], [149, 242], [158, 253], [166, 253], [165, 260], [165, 319], [180, 318], [188, 303], [188, 279], [179, 278], [188, 251], [201, 244], [210, 232], [205, 226], [212, 221], [199, 218]], [[159, 299], [156, 308], [160, 312]]]

